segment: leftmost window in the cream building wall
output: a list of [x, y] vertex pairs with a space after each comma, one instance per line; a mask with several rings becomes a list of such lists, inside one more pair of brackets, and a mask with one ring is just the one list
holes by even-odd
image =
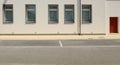
[[13, 23], [13, 5], [3, 5], [4, 21], [3, 23]]

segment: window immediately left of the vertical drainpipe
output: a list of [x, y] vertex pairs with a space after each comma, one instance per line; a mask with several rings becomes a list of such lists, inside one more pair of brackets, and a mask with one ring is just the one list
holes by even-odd
[[74, 23], [74, 5], [65, 5], [65, 23]]

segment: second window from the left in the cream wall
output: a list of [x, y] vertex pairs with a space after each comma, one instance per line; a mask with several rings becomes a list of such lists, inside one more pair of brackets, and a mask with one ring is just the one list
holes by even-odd
[[32, 24], [36, 21], [35, 5], [26, 5], [26, 24]]

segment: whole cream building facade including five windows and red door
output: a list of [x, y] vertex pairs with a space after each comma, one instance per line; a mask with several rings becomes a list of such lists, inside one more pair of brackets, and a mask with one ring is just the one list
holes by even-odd
[[120, 0], [0, 0], [0, 34], [120, 34]]

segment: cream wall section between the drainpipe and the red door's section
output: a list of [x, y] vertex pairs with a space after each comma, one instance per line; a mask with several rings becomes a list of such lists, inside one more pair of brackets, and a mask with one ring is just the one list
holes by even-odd
[[81, 34], [105, 34], [105, 0], [82, 0], [81, 3], [92, 5], [92, 23], [81, 23]]

